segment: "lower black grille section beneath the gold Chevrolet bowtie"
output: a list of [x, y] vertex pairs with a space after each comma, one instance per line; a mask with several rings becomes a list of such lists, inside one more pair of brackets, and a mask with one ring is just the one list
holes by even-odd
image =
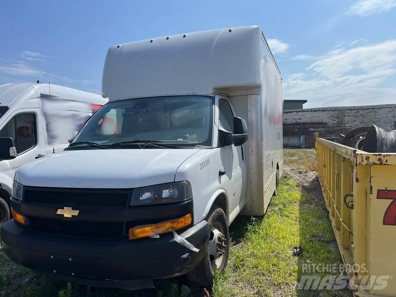
[[68, 221], [35, 216], [26, 216], [26, 219], [32, 231], [50, 235], [116, 239], [124, 234], [124, 222]]

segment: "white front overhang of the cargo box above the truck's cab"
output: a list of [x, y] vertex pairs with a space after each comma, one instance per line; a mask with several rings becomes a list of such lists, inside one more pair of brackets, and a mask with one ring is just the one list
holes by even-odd
[[261, 85], [261, 29], [231, 30], [113, 46], [104, 64], [102, 93], [115, 100], [257, 88]]

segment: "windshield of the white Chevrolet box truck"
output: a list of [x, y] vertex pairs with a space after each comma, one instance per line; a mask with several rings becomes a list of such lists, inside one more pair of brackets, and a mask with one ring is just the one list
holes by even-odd
[[211, 145], [211, 97], [175, 96], [114, 101], [103, 105], [73, 143], [121, 142]]

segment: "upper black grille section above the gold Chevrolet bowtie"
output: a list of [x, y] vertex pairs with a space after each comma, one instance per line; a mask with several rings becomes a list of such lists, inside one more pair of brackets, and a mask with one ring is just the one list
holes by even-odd
[[126, 207], [128, 190], [68, 190], [68, 189], [25, 189], [23, 201], [82, 206]]

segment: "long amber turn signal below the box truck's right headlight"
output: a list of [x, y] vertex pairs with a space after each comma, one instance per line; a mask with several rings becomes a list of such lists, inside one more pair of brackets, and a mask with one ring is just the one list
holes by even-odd
[[191, 217], [191, 213], [189, 213], [175, 220], [166, 221], [145, 227], [131, 228], [129, 229], [129, 239], [132, 240], [132, 239], [144, 238], [152, 235], [159, 235], [159, 234], [172, 232], [172, 230], [180, 230], [183, 229], [184, 227], [191, 225], [192, 221], [193, 220]]

